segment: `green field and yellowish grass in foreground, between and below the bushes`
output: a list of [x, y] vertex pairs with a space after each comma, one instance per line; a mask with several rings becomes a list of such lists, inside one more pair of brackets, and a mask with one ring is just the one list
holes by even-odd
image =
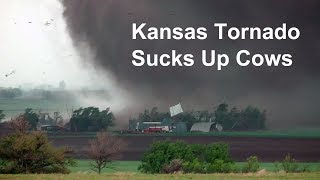
[[[77, 166], [69, 167], [70, 174], [28, 174], [28, 175], [1, 175], [0, 179], [319, 179], [320, 178], [320, 162], [319, 163], [300, 163], [308, 165], [311, 172], [308, 173], [284, 173], [273, 172], [273, 163], [260, 163], [260, 169], [257, 173], [247, 174], [143, 174], [138, 172], [139, 161], [117, 161], [112, 163], [109, 168], [103, 170], [98, 175], [91, 170], [90, 160], [77, 160]], [[241, 167], [244, 163], [238, 162], [237, 166]]]

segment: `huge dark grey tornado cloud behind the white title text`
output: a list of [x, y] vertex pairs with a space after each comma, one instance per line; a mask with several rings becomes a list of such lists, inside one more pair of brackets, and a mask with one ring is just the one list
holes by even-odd
[[[271, 125], [319, 124], [320, 74], [319, 1], [277, 0], [63, 0], [74, 45], [85, 42], [95, 63], [111, 73], [122, 88], [141, 98], [137, 106], [168, 107], [183, 101], [187, 107], [205, 107], [225, 99], [234, 104], [253, 104], [269, 112]], [[200, 40], [132, 40], [132, 23], [155, 27], [206, 27]], [[218, 40], [213, 23], [236, 27], [298, 27], [298, 40]], [[194, 53], [192, 67], [134, 67], [131, 53]], [[230, 57], [222, 71], [201, 64], [200, 50], [215, 49]], [[239, 67], [235, 54], [293, 56], [291, 67]], [[81, 48], [79, 48], [81, 51]], [[293, 111], [292, 111], [293, 110]]]

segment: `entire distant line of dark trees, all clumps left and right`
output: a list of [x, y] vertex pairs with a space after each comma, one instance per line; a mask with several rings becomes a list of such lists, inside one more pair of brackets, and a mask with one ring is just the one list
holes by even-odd
[[[39, 123], [39, 114], [28, 108], [22, 114], [35, 130]], [[0, 121], [5, 116], [0, 111]], [[160, 112], [157, 107], [151, 110], [145, 109], [137, 118], [132, 120], [142, 122], [162, 122], [164, 119], [171, 119], [168, 112]], [[229, 105], [222, 103], [213, 111], [185, 111], [174, 117], [175, 121], [185, 122], [187, 129], [199, 122], [216, 122], [223, 126], [224, 130], [261, 130], [266, 127], [266, 111], [254, 106], [247, 106], [244, 109], [236, 107], [229, 108]], [[113, 126], [115, 116], [110, 110], [100, 110], [97, 107], [79, 108], [73, 111], [72, 117], [65, 127], [72, 132], [100, 131]], [[43, 123], [43, 122], [42, 122]]]

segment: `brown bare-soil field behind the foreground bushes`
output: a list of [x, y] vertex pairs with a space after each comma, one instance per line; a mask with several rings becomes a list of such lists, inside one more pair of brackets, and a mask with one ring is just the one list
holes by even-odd
[[[256, 138], [256, 137], [153, 137], [128, 136], [121, 137], [128, 143], [128, 148], [122, 153], [120, 160], [140, 160], [143, 153], [153, 141], [183, 140], [187, 143], [208, 144], [224, 142], [230, 145], [231, 156], [235, 161], [244, 161], [251, 155], [257, 155], [260, 161], [280, 161], [288, 153], [298, 161], [320, 161], [320, 139], [305, 138]], [[88, 137], [51, 138], [55, 146], [69, 146], [75, 150], [77, 157], [85, 158]]]

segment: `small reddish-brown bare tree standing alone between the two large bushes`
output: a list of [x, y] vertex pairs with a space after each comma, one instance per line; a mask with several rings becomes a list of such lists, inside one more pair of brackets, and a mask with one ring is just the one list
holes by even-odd
[[103, 168], [106, 168], [113, 160], [119, 158], [127, 144], [119, 137], [113, 136], [107, 132], [97, 133], [97, 137], [89, 141], [89, 157], [94, 161], [92, 169], [99, 174]]

